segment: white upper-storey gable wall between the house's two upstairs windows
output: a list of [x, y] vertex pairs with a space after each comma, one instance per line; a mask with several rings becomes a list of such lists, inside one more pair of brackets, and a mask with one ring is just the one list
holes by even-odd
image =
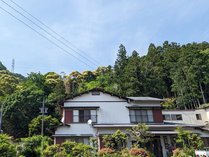
[[130, 123], [129, 110], [126, 108], [128, 105], [125, 99], [119, 99], [102, 92], [100, 92], [100, 95], [84, 94], [64, 104], [65, 107], [99, 106], [97, 110], [97, 123], [103, 124]]

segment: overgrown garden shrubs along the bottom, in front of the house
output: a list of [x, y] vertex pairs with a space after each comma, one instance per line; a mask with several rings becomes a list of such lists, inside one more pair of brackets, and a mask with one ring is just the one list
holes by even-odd
[[[10, 136], [0, 134], [0, 154], [2, 157], [151, 157], [154, 155], [145, 146], [151, 141], [148, 129], [144, 124], [138, 124], [127, 133], [117, 130], [113, 134], [104, 135], [105, 147], [99, 151], [95, 149], [98, 146], [95, 138], [90, 140], [90, 145], [73, 141], [54, 145], [47, 136], [36, 135], [14, 141]], [[177, 128], [176, 131], [178, 134], [175, 149], [171, 152], [172, 157], [192, 157], [196, 149], [203, 148], [203, 141], [197, 134], [182, 128]], [[136, 140], [137, 143], [132, 143], [131, 148], [126, 148], [128, 140]]]

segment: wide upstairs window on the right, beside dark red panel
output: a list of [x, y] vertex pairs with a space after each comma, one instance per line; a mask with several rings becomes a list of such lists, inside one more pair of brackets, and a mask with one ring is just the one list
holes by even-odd
[[130, 110], [129, 112], [131, 123], [148, 123], [154, 121], [152, 110]]

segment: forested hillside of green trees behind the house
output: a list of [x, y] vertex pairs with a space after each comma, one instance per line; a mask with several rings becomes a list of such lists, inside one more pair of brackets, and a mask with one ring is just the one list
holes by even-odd
[[37, 123], [38, 119], [31, 121], [40, 114], [43, 97], [48, 114], [60, 120], [59, 104], [66, 97], [95, 87], [122, 96], [169, 98], [165, 108], [198, 108], [209, 100], [209, 43], [150, 44], [146, 56], [136, 51], [128, 56], [120, 45], [113, 66], [64, 77], [55, 72], [23, 77], [0, 62], [3, 130], [14, 137], [28, 136], [28, 125]]

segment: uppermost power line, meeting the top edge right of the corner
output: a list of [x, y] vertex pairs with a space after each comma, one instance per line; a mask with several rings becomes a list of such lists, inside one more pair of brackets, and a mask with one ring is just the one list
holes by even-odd
[[[1, 0], [3, 1], [3, 0]], [[35, 19], [36, 21], [38, 21], [40, 24], [42, 24], [43, 26], [45, 26], [48, 30], [50, 30], [51, 32], [53, 32], [54, 34], [56, 34], [58, 37], [60, 37], [63, 41], [67, 42], [68, 44], [70, 44], [74, 50], [77, 49], [78, 51], [84, 53], [85, 55], [87, 55], [84, 51], [82, 51], [81, 49], [77, 48], [73, 43], [71, 43], [69, 40], [67, 40], [66, 38], [64, 38], [63, 36], [61, 36], [59, 33], [57, 33], [56, 31], [54, 31], [53, 29], [51, 29], [49, 26], [47, 26], [45, 23], [43, 23], [41, 20], [39, 20], [37, 17], [33, 16], [31, 13], [29, 13], [27, 10], [25, 10], [23, 7], [21, 7], [19, 4], [17, 4], [16, 2], [14, 2], [13, 0], [10, 0], [14, 5], [16, 5], [18, 8], [20, 8], [22, 11], [24, 11], [25, 13], [27, 13], [29, 16], [31, 16], [33, 19]], [[6, 3], [6, 2], [5, 2]], [[8, 4], [8, 3], [7, 3]], [[9, 5], [9, 4], [8, 4]], [[28, 18], [27, 18], [28, 19]], [[29, 19], [28, 19], [29, 20]], [[31, 21], [31, 20], [30, 20]], [[33, 22], [32, 22], [33, 23]], [[36, 24], [35, 24], [36, 25]], [[36, 25], [37, 26], [37, 25]], [[39, 27], [39, 26], [38, 26]], [[59, 40], [59, 39], [58, 39]], [[60, 40], [59, 40], [60, 41]], [[62, 41], [60, 41], [62, 44], [64, 44]], [[66, 44], [64, 44], [65, 46], [67, 46]], [[69, 46], [67, 46], [69, 48]], [[71, 49], [71, 48], [70, 48]], [[89, 62], [91, 62], [92, 64], [94, 64], [95, 66], [98, 66], [97, 64], [99, 64], [96, 60], [94, 60], [93, 58], [89, 57], [90, 59], [88, 59], [87, 57], [85, 57], [82, 53], [79, 53], [78, 51], [76, 51], [77, 54], [79, 54], [81, 57], [85, 58], [86, 60], [88, 60]], [[95, 64], [96, 63], [96, 64]]]

